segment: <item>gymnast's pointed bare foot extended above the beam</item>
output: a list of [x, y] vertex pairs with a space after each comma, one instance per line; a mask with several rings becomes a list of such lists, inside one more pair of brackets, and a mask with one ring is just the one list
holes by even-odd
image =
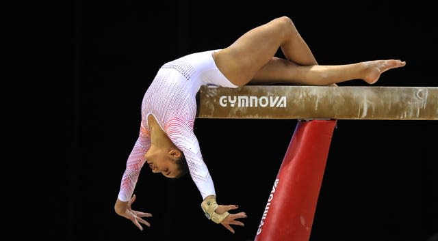
[[377, 82], [381, 74], [387, 70], [393, 68], [399, 68], [406, 65], [405, 61], [400, 61], [398, 59], [387, 59], [387, 60], [374, 60], [366, 61], [365, 64], [365, 74], [363, 80], [366, 83], [374, 84]]

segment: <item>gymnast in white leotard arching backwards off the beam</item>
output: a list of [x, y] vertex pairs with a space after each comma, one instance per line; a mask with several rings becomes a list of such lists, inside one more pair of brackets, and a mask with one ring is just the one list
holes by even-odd
[[[285, 57], [275, 57], [281, 48]], [[214, 182], [194, 134], [196, 94], [201, 85], [236, 88], [251, 84], [333, 85], [351, 80], [374, 84], [381, 74], [405, 66], [398, 59], [380, 59], [336, 66], [318, 65], [291, 18], [274, 18], [240, 36], [227, 48], [192, 53], [164, 63], [146, 90], [139, 134], [127, 158], [114, 210], [140, 230], [152, 214], [132, 209], [134, 188], [146, 164], [166, 178], [190, 174], [201, 193], [208, 219], [234, 233], [244, 226], [237, 205], [216, 202]]]

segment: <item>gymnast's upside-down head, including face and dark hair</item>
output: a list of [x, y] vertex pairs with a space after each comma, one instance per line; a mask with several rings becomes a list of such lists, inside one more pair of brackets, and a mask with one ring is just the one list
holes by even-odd
[[144, 155], [153, 173], [162, 173], [166, 178], [181, 178], [188, 171], [184, 153], [179, 149], [149, 150]]

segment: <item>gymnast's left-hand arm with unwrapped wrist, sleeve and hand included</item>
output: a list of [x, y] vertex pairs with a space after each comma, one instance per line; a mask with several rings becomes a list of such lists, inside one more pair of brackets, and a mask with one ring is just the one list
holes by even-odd
[[139, 137], [131, 151], [131, 154], [129, 154], [126, 169], [123, 173], [120, 184], [118, 197], [114, 205], [116, 214], [128, 218], [140, 230], [143, 230], [143, 227], [140, 225], [140, 223], [148, 227], [150, 226], [149, 222], [145, 221], [143, 217], [150, 217], [152, 214], [132, 210], [131, 205], [134, 201], [136, 201], [136, 195], [133, 195], [133, 190], [136, 187], [140, 170], [142, 169], [144, 162], [146, 162], [144, 154], [146, 154], [147, 150], [149, 150], [149, 147], [151, 147], [150, 134], [144, 128], [140, 128]]

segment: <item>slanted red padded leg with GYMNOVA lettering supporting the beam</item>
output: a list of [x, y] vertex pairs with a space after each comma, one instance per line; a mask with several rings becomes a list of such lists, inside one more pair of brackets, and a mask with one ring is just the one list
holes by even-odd
[[255, 241], [308, 241], [336, 120], [298, 122]]

